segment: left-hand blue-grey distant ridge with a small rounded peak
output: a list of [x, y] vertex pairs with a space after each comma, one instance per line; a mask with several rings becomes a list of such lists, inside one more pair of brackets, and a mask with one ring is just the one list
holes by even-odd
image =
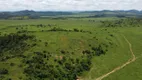
[[0, 12], [0, 19], [9, 19], [11, 17], [28, 16], [31, 19], [39, 18], [40, 16], [56, 16], [56, 15], [72, 15], [72, 12], [61, 12], [61, 11], [33, 11], [23, 10], [16, 12]]

